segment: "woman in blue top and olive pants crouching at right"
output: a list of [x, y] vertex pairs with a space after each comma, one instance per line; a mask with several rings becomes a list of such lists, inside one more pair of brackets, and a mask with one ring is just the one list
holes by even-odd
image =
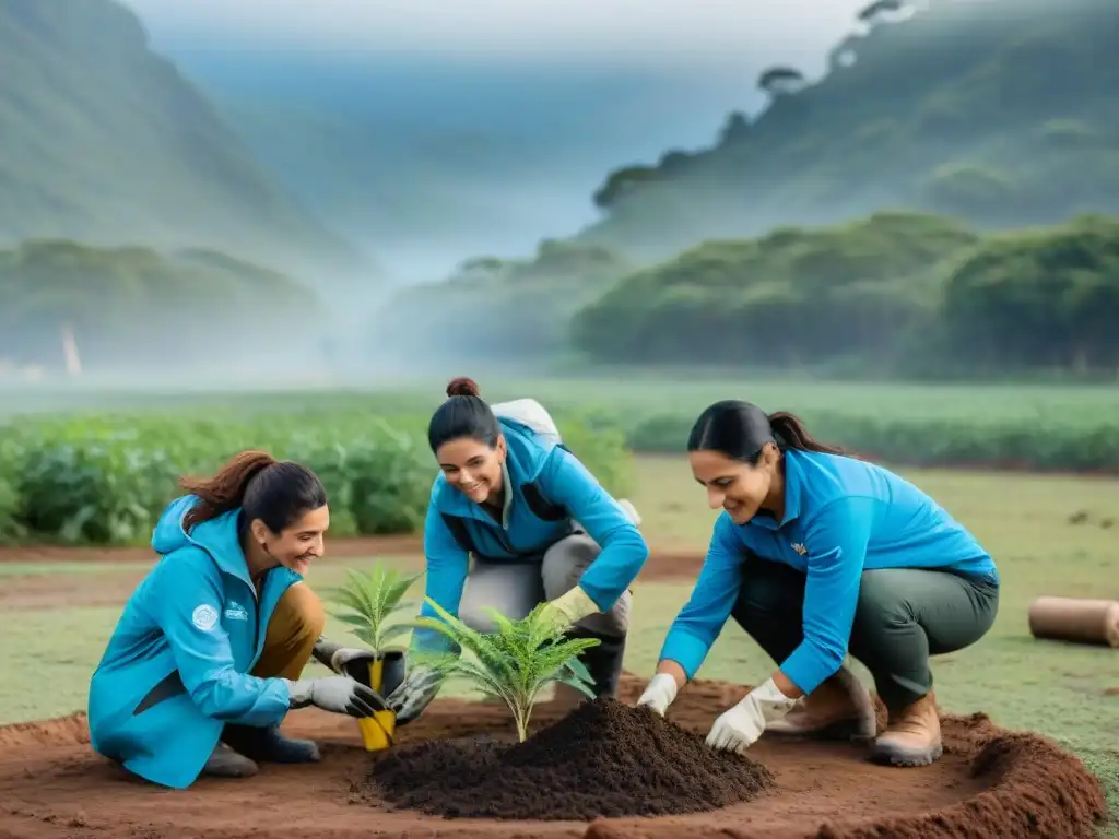
[[[872, 757], [894, 765], [939, 758], [929, 657], [994, 623], [987, 552], [912, 483], [821, 445], [790, 414], [716, 403], [692, 428], [688, 460], [723, 512], [639, 704], [664, 714], [733, 618], [779, 668], [715, 720], [709, 745], [741, 752], [768, 730], [873, 739]], [[890, 711], [876, 738], [848, 652]]]

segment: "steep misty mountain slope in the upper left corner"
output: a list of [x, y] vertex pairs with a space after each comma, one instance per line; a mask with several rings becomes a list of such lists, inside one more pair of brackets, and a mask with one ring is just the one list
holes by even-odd
[[0, 243], [356, 254], [294, 205], [111, 0], [0, 0]]

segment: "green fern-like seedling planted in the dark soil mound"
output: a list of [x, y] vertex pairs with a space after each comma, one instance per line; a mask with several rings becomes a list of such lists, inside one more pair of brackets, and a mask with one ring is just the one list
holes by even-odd
[[463, 677], [488, 696], [500, 698], [513, 714], [521, 743], [528, 736], [533, 703], [548, 685], [567, 685], [594, 698], [591, 690], [594, 680], [576, 657], [601, 642], [593, 638], [565, 638], [563, 628], [540, 620], [547, 604], [539, 604], [519, 621], [510, 621], [489, 609], [497, 632], [483, 633], [470, 629], [430, 597], [426, 602], [439, 619], [420, 618], [413, 625], [440, 632], [477, 660], [445, 653], [425, 658], [424, 663], [444, 677]]

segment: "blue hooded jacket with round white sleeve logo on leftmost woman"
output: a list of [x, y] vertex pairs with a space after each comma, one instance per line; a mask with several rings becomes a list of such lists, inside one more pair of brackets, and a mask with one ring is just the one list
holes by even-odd
[[269, 726], [289, 708], [283, 679], [247, 676], [272, 611], [302, 577], [264, 577], [260, 602], [237, 532], [241, 510], [187, 535], [185, 496], [163, 511], [151, 546], [162, 556], [129, 597], [90, 682], [90, 744], [153, 783], [198, 777], [226, 723]]

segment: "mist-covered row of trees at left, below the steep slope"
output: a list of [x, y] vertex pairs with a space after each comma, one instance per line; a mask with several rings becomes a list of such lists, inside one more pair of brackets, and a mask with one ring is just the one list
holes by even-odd
[[0, 374], [57, 371], [70, 339], [87, 373], [313, 365], [323, 346], [308, 324], [322, 317], [291, 276], [217, 251], [60, 239], [0, 249]]

